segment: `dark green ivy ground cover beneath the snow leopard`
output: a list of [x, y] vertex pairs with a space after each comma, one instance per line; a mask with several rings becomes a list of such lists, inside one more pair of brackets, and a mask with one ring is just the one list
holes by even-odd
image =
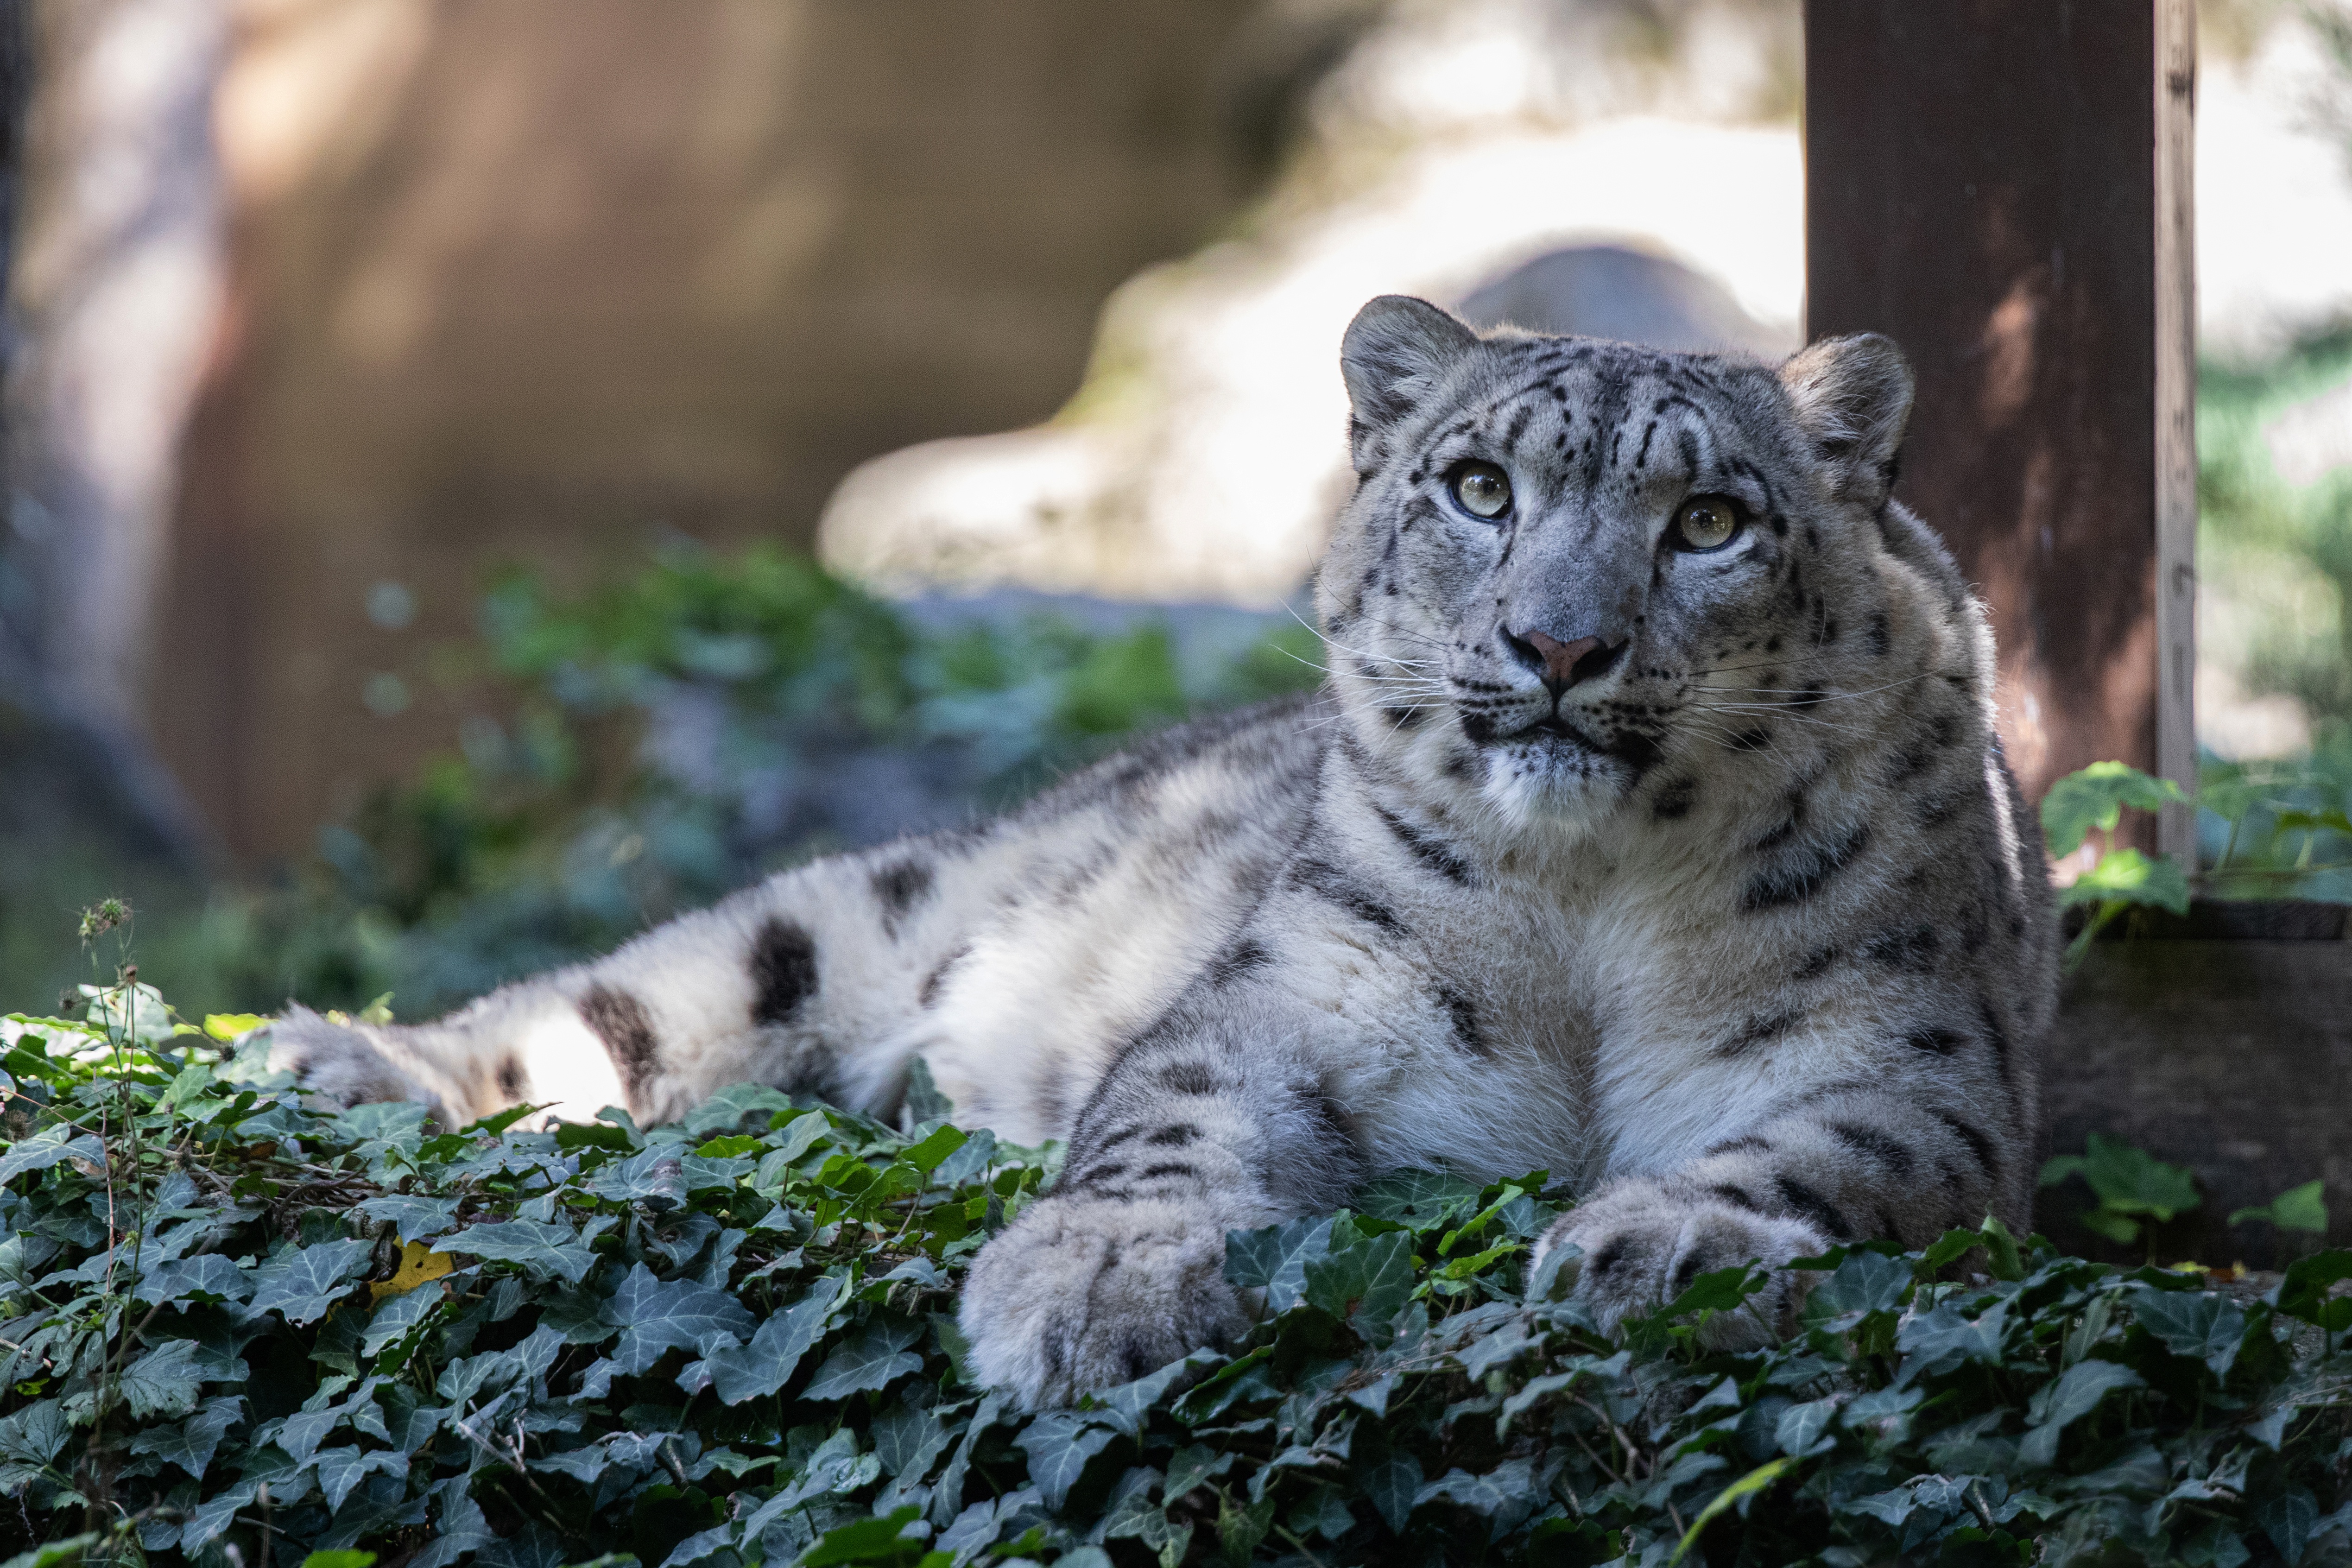
[[1738, 1272], [1611, 1342], [1526, 1288], [1543, 1173], [1402, 1173], [1232, 1237], [1242, 1345], [1023, 1415], [953, 1309], [1051, 1150], [750, 1086], [435, 1133], [153, 992], [7, 1037], [9, 1568], [2352, 1561], [2352, 1253], [2232, 1295], [1987, 1225], [1708, 1354]]

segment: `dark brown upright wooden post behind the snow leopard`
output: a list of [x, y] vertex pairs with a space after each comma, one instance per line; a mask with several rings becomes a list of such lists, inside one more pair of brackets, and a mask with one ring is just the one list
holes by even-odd
[[2192, 0], [1804, 12], [1806, 336], [1919, 371], [1898, 494], [1992, 607], [2027, 797], [2192, 785]]

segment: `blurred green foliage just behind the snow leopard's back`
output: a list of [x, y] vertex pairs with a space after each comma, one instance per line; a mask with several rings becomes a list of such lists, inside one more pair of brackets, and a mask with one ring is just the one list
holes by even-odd
[[[572, 599], [513, 574], [437, 663], [477, 696], [461, 748], [270, 886], [134, 896], [148, 978], [205, 1011], [395, 992], [430, 1016], [818, 853], [1000, 809], [1138, 729], [1308, 689], [1319, 639], [1188, 654], [1157, 621], [922, 623], [783, 550], [682, 545]], [[59, 889], [47, 957], [111, 891]]]

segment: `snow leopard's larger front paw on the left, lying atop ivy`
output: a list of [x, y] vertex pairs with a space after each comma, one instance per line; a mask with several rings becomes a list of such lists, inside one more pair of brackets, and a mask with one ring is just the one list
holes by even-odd
[[981, 1382], [1035, 1410], [1218, 1345], [1249, 1312], [1209, 1204], [1047, 1197], [971, 1262], [962, 1326]]

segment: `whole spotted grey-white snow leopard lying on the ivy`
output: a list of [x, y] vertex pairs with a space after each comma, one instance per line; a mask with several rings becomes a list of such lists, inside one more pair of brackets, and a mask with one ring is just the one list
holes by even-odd
[[2056, 1001], [1994, 649], [1891, 496], [1882, 336], [1783, 364], [1475, 331], [1341, 348], [1327, 679], [1009, 816], [816, 860], [428, 1025], [292, 1009], [343, 1100], [673, 1119], [760, 1081], [1063, 1140], [985, 1241], [978, 1375], [1075, 1401], [1242, 1335], [1228, 1232], [1392, 1168], [1545, 1171], [1536, 1279], [1609, 1331], [1837, 1244], [2020, 1227]]

